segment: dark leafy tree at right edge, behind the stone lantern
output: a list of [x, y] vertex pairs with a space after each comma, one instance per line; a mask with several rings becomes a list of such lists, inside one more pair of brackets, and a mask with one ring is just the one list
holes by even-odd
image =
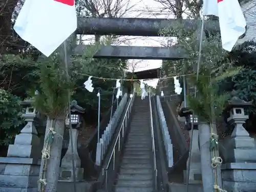
[[249, 119], [246, 121], [246, 129], [249, 132], [255, 132], [256, 103], [255, 103], [255, 85], [256, 85], [256, 42], [246, 41], [236, 47], [229, 54], [229, 59], [233, 61], [233, 66], [244, 66], [244, 69], [233, 78], [226, 78], [219, 82], [219, 92], [224, 91], [229, 94], [236, 94], [240, 99], [253, 101], [252, 106], [248, 108]]

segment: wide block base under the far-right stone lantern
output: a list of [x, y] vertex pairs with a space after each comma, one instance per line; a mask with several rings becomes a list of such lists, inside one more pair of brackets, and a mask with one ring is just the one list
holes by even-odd
[[256, 192], [256, 163], [223, 164], [222, 179], [228, 192]]

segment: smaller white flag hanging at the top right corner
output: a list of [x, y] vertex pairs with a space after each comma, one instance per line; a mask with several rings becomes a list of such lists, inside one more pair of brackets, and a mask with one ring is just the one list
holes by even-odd
[[204, 0], [203, 15], [219, 17], [222, 47], [227, 51], [245, 33], [246, 21], [238, 0]]

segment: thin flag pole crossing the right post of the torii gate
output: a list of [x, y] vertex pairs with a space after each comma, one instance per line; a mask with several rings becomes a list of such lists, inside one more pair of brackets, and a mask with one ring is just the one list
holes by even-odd
[[[207, 1], [205, 1], [207, 2]], [[204, 33], [204, 15], [202, 19], [202, 26], [201, 26], [201, 33], [200, 33], [200, 44], [199, 44], [199, 55], [198, 55], [198, 62], [197, 62], [197, 81], [199, 79], [199, 70], [200, 70], [200, 63], [202, 58], [202, 44], [203, 44], [203, 33]], [[197, 87], [195, 86], [195, 98], [197, 97]], [[193, 113], [193, 118], [191, 122], [191, 136], [190, 136], [190, 143], [189, 143], [189, 155], [188, 155], [188, 164], [187, 164], [187, 183], [186, 183], [186, 192], [188, 192], [188, 182], [189, 182], [189, 172], [190, 172], [190, 162], [191, 162], [191, 150], [192, 150], [192, 141], [193, 141], [193, 132], [194, 132], [194, 120], [195, 114]]]

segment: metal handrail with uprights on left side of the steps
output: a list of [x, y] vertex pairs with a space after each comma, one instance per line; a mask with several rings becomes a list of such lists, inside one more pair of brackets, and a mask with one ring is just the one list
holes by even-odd
[[[113, 147], [113, 150], [111, 152], [111, 156], [110, 156], [110, 159], [108, 161], [108, 163], [106, 164], [106, 166], [103, 168], [103, 172], [102, 174], [104, 175], [105, 173], [105, 187], [107, 188], [107, 185], [108, 185], [108, 169], [109, 169], [109, 166], [110, 166], [110, 163], [111, 163], [111, 160], [113, 158], [113, 170], [115, 169], [115, 151], [116, 151], [116, 145], [118, 143], [118, 151], [120, 151], [120, 139], [121, 139], [121, 135], [122, 135], [122, 138], [123, 138], [123, 134], [124, 134], [124, 128], [127, 126], [127, 119], [129, 119], [129, 114], [131, 113], [132, 111], [132, 106], [133, 106], [133, 102], [134, 102], [134, 98], [135, 98], [135, 89], [133, 91], [133, 97], [131, 98], [128, 106], [127, 106], [127, 109], [125, 111], [125, 114], [124, 114], [124, 117], [123, 117], [123, 120], [122, 120], [122, 124], [121, 124], [121, 129], [119, 130], [118, 132], [118, 136], [116, 138], [116, 141], [115, 141], [115, 144], [114, 144], [114, 147]], [[122, 134], [121, 134], [122, 133]]]

